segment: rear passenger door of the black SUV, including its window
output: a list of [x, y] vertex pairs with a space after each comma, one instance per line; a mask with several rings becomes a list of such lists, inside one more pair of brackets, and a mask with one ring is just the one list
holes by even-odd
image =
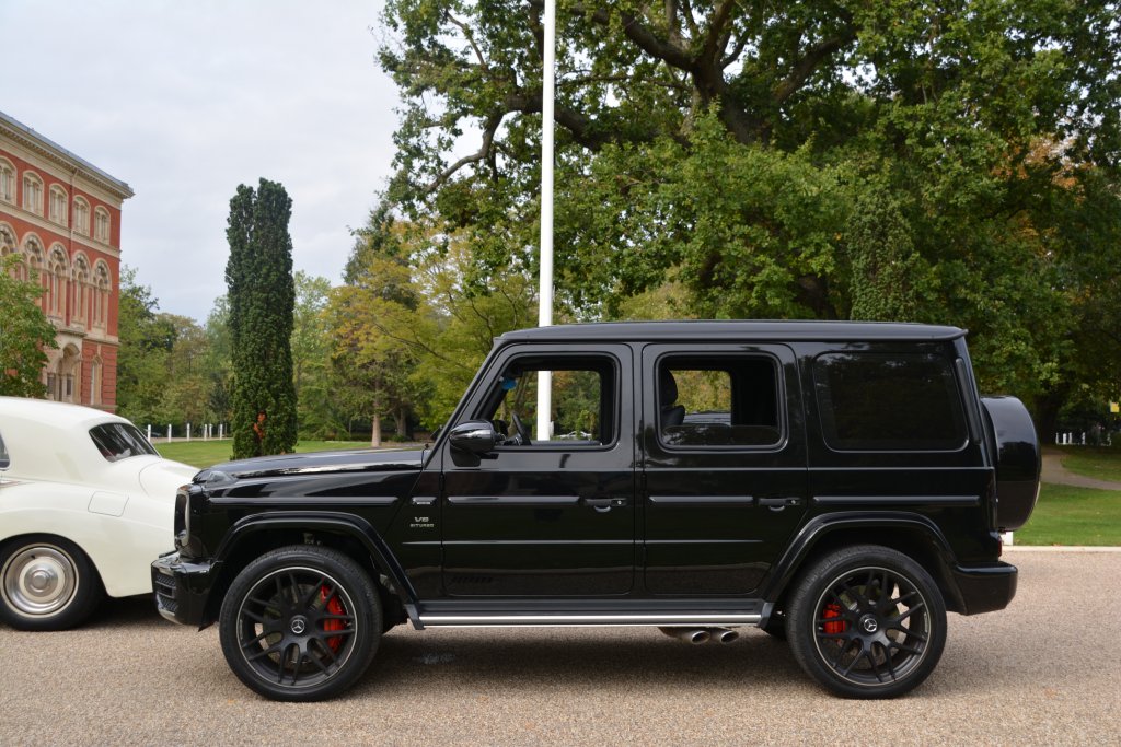
[[641, 370], [646, 590], [750, 595], [806, 512], [794, 353], [649, 345]]

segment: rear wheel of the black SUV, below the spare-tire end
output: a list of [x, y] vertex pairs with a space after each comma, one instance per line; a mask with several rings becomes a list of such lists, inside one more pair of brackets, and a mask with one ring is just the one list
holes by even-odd
[[934, 671], [946, 606], [930, 575], [896, 550], [858, 545], [814, 563], [787, 607], [802, 669], [845, 698], [895, 698]]

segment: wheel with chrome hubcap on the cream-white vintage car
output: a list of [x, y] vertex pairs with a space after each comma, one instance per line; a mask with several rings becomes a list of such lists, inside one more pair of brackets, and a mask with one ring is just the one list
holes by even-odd
[[0, 619], [13, 628], [75, 627], [104, 596], [93, 563], [70, 540], [28, 534], [0, 545]]

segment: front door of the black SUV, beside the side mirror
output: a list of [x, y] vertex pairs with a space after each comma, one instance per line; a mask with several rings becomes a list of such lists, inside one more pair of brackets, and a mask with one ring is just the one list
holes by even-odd
[[[552, 373], [552, 432], [546, 438], [530, 432], [537, 421], [541, 371]], [[630, 348], [513, 346], [491, 362], [481, 381], [461, 421], [490, 420], [508, 438], [482, 457], [443, 447], [444, 592], [451, 597], [630, 592], [634, 578]]]

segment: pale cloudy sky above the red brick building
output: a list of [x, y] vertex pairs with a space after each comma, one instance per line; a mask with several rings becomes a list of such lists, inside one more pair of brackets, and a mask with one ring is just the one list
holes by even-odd
[[225, 293], [239, 184], [293, 199], [296, 270], [341, 282], [391, 172], [397, 88], [380, 0], [0, 0], [0, 111], [136, 196], [121, 262], [159, 310]]

